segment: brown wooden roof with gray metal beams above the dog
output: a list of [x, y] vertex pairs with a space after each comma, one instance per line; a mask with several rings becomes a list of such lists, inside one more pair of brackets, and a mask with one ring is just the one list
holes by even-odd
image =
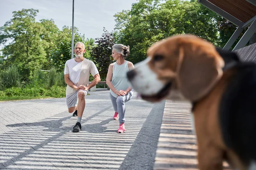
[[238, 26], [223, 49], [229, 50], [245, 28], [248, 27], [233, 51], [243, 48], [255, 33], [255, 0], [198, 0], [198, 2]]

